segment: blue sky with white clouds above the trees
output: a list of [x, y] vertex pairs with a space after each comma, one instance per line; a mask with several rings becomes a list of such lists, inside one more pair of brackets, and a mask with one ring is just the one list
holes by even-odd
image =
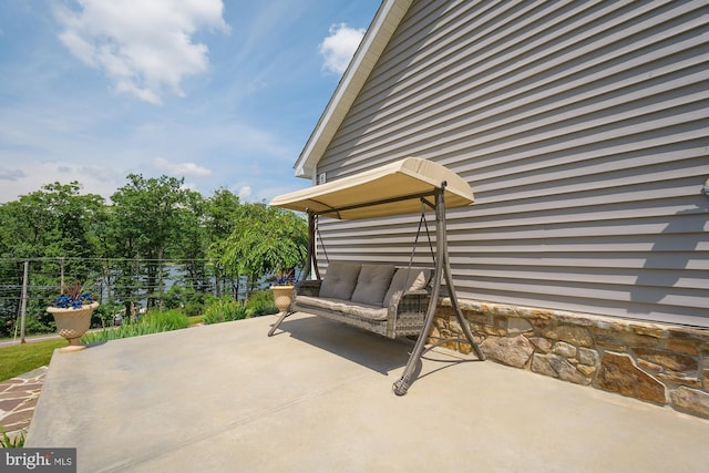
[[243, 202], [294, 164], [380, 0], [0, 1], [0, 203], [129, 174]]

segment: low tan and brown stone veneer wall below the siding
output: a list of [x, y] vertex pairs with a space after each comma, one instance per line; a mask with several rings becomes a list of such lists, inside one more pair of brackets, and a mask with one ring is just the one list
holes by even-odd
[[[709, 419], [709, 330], [460, 300], [489, 359]], [[450, 299], [433, 336], [462, 330]], [[469, 343], [448, 343], [467, 353]]]

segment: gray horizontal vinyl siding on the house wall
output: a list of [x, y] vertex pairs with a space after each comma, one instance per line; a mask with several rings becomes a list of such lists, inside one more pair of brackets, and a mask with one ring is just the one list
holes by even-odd
[[[417, 156], [466, 178], [476, 203], [449, 212], [459, 298], [708, 327], [708, 17], [414, 1], [317, 172]], [[330, 259], [405, 264], [417, 224], [320, 230]], [[428, 253], [423, 236], [415, 263]]]

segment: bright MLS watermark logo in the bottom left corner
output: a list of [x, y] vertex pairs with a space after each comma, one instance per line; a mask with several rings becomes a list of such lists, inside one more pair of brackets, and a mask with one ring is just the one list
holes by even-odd
[[2, 472], [75, 473], [76, 449], [4, 449]]

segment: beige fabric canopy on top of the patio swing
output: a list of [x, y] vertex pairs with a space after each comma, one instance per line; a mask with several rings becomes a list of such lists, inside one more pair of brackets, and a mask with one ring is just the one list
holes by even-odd
[[470, 185], [446, 167], [407, 157], [360, 174], [274, 198], [270, 205], [340, 219], [386, 217], [421, 212], [420, 198], [445, 183], [445, 207], [474, 202]]

